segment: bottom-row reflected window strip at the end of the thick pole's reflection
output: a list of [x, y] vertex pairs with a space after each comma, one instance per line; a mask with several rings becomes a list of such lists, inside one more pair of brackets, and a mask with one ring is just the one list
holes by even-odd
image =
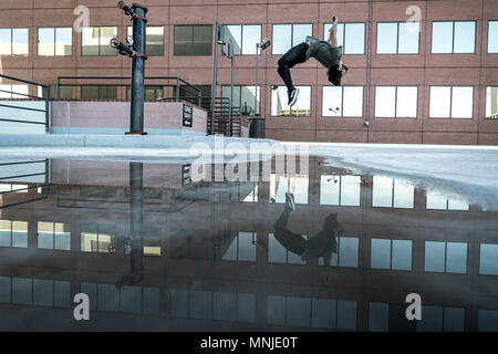
[[80, 291], [89, 295], [90, 310], [159, 314], [158, 288], [82, 282]]

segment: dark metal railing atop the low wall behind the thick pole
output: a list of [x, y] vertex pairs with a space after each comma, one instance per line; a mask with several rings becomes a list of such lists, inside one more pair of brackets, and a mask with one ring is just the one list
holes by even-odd
[[[196, 95], [196, 98], [198, 98], [198, 103], [200, 106], [203, 94], [199, 88], [195, 87], [194, 85], [189, 84], [185, 80], [178, 76], [145, 76], [145, 80], [175, 80], [175, 84], [157, 84], [156, 86], [163, 86], [163, 87], [176, 87], [176, 100], [179, 101], [179, 87], [180, 83], [185, 84], [191, 91], [194, 91], [194, 94]], [[102, 87], [108, 87], [108, 86], [132, 86], [132, 84], [64, 84], [61, 83], [62, 80], [132, 80], [131, 76], [58, 76], [56, 82], [56, 97], [61, 97], [61, 87], [62, 86], [102, 86]], [[147, 86], [147, 85], [146, 85]]]

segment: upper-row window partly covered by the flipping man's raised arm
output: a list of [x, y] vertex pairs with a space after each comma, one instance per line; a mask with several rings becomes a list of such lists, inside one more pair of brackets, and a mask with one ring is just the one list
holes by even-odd
[[[323, 40], [329, 41], [332, 23], [323, 25]], [[365, 23], [338, 23], [338, 45], [344, 54], [365, 54]]]

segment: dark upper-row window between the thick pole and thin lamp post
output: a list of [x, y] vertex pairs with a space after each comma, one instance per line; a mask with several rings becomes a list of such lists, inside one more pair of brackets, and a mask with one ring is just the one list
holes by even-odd
[[175, 55], [211, 55], [212, 25], [175, 25]]

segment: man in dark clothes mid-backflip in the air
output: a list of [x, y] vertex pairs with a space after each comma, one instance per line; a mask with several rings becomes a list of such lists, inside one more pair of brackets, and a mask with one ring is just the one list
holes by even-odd
[[310, 58], [314, 58], [328, 69], [329, 81], [335, 86], [341, 85], [341, 79], [347, 72], [347, 66], [341, 61], [342, 45], [338, 45], [338, 19], [333, 18], [330, 29], [329, 41], [320, 41], [313, 37], [307, 37], [307, 41], [291, 48], [278, 61], [278, 73], [287, 86], [289, 95], [289, 106], [294, 105], [298, 100], [299, 88], [292, 85], [290, 69], [295, 64], [304, 63]]

